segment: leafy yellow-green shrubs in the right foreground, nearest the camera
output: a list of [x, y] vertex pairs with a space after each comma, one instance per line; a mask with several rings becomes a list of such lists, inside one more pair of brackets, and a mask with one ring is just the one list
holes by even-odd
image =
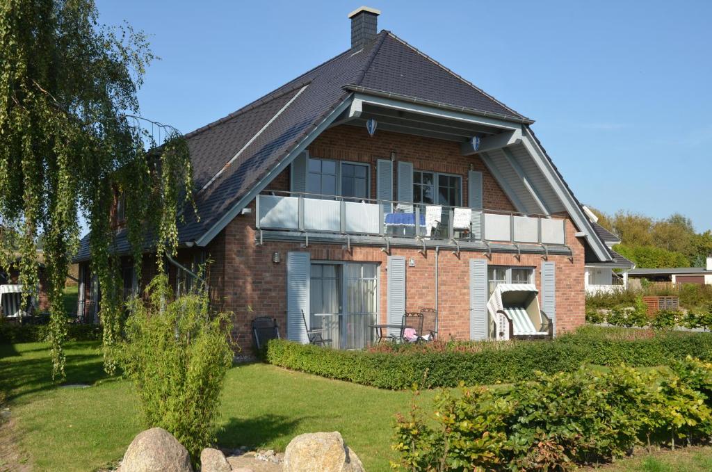
[[[662, 377], [661, 379], [658, 377]], [[553, 471], [628, 454], [642, 438], [698, 441], [711, 434], [712, 365], [687, 358], [674, 372], [615, 367], [547, 375], [506, 389], [442, 392], [434, 414], [414, 403], [397, 416], [394, 468]]]

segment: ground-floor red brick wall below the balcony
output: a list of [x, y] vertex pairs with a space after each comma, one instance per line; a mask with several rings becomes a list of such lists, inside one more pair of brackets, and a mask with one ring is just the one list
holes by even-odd
[[[224, 231], [224, 253], [216, 245], [210, 253], [220, 266], [224, 266], [224, 292], [221, 306], [234, 313], [234, 336], [241, 347], [249, 349], [250, 321], [255, 316], [277, 318], [282, 334], [286, 335], [286, 256], [289, 251], [308, 251], [313, 260], [362, 261], [380, 264], [379, 316], [386, 320], [387, 308], [387, 254], [376, 247], [353, 246], [349, 252], [340, 244], [314, 244], [308, 248], [303, 243], [265, 241], [255, 244], [254, 214], [238, 216]], [[567, 256], [549, 256], [556, 265], [557, 332], [572, 330], [585, 322], [584, 248], [575, 237], [575, 227], [566, 221], [566, 240], [574, 253], [573, 261]], [[278, 252], [281, 262], [273, 263], [272, 255]], [[407, 267], [406, 303], [408, 311], [435, 306], [435, 251], [425, 255], [416, 248], [391, 248], [392, 256], [415, 258], [415, 266]], [[459, 258], [450, 250], [439, 253], [439, 319], [440, 336], [464, 340], [469, 337], [469, 259], [486, 258], [481, 252], [461, 251]], [[535, 284], [540, 288], [541, 263], [539, 255], [523, 255], [518, 261], [513, 254], [493, 253], [489, 264], [535, 268]], [[211, 282], [212, 284], [212, 282]]]

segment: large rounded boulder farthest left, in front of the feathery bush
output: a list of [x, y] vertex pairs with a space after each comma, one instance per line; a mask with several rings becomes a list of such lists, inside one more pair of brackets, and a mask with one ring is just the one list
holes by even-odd
[[168, 431], [151, 428], [137, 434], [119, 472], [193, 472], [187, 449]]

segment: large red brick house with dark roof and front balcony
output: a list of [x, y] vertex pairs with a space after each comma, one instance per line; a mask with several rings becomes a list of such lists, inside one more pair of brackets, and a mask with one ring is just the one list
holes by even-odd
[[[582, 325], [585, 260], [614, 257], [533, 120], [377, 33], [378, 14], [353, 12], [347, 51], [186, 135], [200, 219], [179, 225], [169, 280], [185, 290], [212, 261], [211, 303], [243, 347], [263, 315], [305, 342], [302, 311], [340, 348], [421, 308], [441, 339], [489, 339], [500, 283], [535, 284], [555, 332]], [[97, 303], [88, 259], [85, 238], [80, 303]], [[155, 273], [148, 255], [140, 275], [125, 261], [128, 290]]]

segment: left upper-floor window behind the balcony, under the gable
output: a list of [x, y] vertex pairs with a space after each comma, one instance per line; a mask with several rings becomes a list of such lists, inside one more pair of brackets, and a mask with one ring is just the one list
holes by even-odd
[[367, 199], [370, 193], [368, 164], [310, 158], [307, 193]]

